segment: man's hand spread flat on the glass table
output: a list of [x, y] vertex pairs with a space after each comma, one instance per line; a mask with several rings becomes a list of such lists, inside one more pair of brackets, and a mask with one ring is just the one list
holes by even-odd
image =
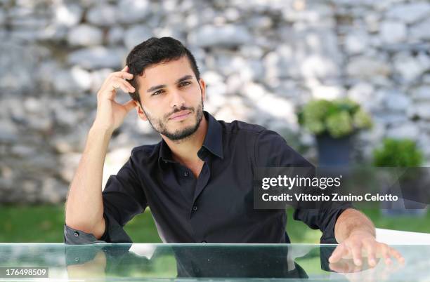
[[404, 264], [403, 256], [386, 243], [376, 241], [372, 234], [366, 231], [353, 231], [351, 235], [340, 243], [329, 258], [330, 264], [339, 262], [341, 259], [353, 259], [354, 264], [360, 267], [363, 257], [367, 257], [367, 264], [374, 267], [377, 259], [384, 258], [385, 264], [391, 264], [391, 257], [395, 257], [400, 264]]

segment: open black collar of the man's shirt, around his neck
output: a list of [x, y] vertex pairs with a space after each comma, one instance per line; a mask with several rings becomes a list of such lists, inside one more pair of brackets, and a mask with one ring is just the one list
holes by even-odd
[[[202, 147], [223, 159], [223, 135], [221, 123], [219, 123], [219, 121], [217, 121], [214, 116], [211, 116], [208, 112], [203, 111], [203, 114], [204, 118], [207, 120], [207, 133], [204, 137]], [[201, 149], [199, 152], [201, 152]], [[167, 145], [164, 139], [161, 141], [161, 145], [159, 147], [158, 159], [165, 162], [175, 162], [171, 157], [169, 145]]]

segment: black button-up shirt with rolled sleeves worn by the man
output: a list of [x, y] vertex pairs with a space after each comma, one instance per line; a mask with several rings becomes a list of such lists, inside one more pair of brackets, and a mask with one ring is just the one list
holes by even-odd
[[[106, 230], [100, 240], [65, 225], [66, 243], [130, 243], [124, 225], [150, 207], [165, 243], [289, 243], [285, 210], [254, 209], [258, 167], [312, 166], [272, 130], [242, 121], [217, 121], [204, 112], [207, 135], [197, 155], [196, 178], [174, 161], [162, 140], [133, 148], [103, 190]], [[334, 224], [351, 205], [328, 210], [297, 208], [294, 219], [323, 231], [322, 243], [337, 243]]]

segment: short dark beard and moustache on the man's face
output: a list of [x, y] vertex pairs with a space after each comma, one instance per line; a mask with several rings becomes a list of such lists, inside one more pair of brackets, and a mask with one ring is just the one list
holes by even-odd
[[[157, 119], [154, 116], [149, 115], [147, 112], [145, 112], [145, 109], [143, 109], [143, 112], [145, 113], [145, 116], [147, 117], [150, 125], [152, 128], [154, 128], [157, 133], [162, 134], [169, 138], [172, 141], [180, 141], [180, 140], [186, 140], [188, 137], [191, 137], [199, 128], [200, 122], [202, 122], [203, 119], [203, 99], [200, 102], [200, 105], [197, 105], [197, 109], [194, 107], [185, 107], [182, 106], [180, 108], [175, 108], [173, 112], [170, 112], [169, 114], [164, 115], [163, 119]], [[169, 120], [169, 116], [171, 114], [174, 114], [176, 112], [181, 111], [190, 111], [192, 114], [195, 113], [195, 124], [193, 126], [188, 126], [185, 128], [181, 128], [174, 131], [169, 131], [167, 129], [166, 123]]]

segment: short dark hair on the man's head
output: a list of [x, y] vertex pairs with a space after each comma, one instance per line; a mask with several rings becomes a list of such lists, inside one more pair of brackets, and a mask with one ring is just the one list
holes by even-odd
[[195, 58], [188, 48], [183, 46], [181, 41], [171, 37], [151, 37], [136, 45], [126, 58], [126, 65], [129, 66], [129, 73], [134, 74], [133, 79], [127, 81], [136, 89], [135, 92], [129, 93], [131, 98], [141, 104], [141, 98], [138, 93], [139, 85], [137, 76], [143, 75], [146, 67], [161, 62], [178, 60], [184, 55], [188, 57], [191, 68], [198, 81], [200, 79], [200, 72]]

